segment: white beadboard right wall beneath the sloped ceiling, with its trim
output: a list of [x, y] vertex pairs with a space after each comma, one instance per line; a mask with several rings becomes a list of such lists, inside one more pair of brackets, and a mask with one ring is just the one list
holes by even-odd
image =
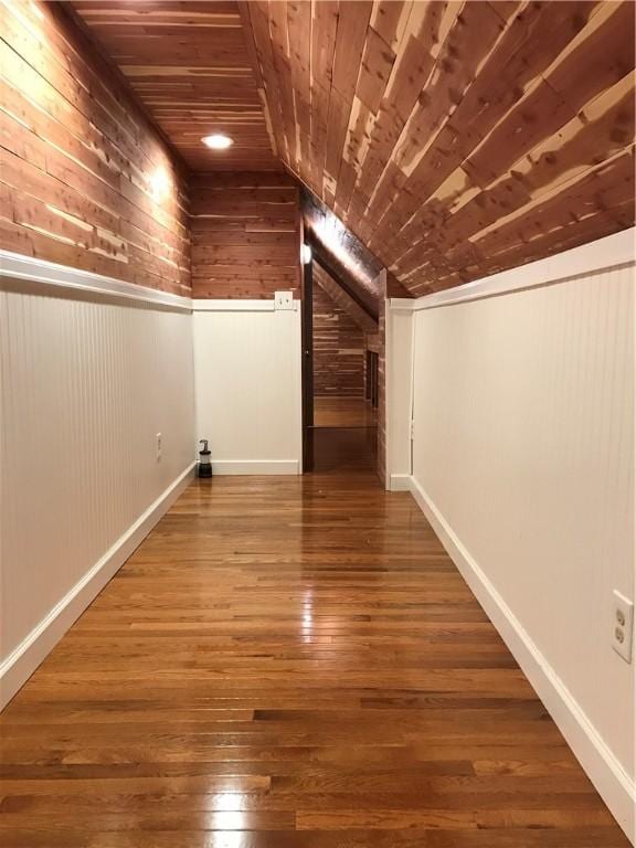
[[633, 239], [421, 298], [413, 443], [417, 500], [632, 838]]

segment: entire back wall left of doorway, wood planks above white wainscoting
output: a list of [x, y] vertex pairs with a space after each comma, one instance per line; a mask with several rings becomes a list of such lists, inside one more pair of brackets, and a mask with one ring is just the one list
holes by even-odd
[[[191, 197], [197, 438], [214, 474], [298, 474], [298, 186], [282, 171], [215, 172]], [[274, 308], [276, 292], [292, 308]]]

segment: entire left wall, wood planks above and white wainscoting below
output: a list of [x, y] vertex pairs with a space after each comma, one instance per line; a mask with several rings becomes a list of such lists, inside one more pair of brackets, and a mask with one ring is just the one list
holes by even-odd
[[194, 410], [182, 166], [62, 4], [0, 21], [2, 703], [187, 480]]

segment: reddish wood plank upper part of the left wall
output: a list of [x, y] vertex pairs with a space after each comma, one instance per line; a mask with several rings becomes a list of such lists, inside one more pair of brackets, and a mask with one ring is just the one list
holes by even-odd
[[190, 293], [183, 167], [57, 3], [0, 4], [0, 240]]

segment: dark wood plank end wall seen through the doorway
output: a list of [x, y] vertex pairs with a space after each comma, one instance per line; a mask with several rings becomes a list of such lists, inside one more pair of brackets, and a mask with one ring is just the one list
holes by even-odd
[[314, 395], [364, 396], [364, 333], [320, 285], [314, 263]]

